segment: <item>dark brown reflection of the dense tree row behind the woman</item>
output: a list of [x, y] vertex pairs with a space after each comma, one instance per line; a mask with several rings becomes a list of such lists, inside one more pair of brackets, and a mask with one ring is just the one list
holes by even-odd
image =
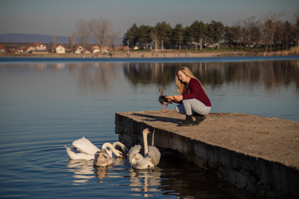
[[[127, 65], [126, 65], [127, 64]], [[263, 83], [278, 87], [296, 83], [299, 88], [299, 60], [269, 60], [253, 62], [195, 62], [195, 63], [126, 63], [124, 73], [134, 85], [174, 82], [179, 67], [190, 68], [202, 84]]]

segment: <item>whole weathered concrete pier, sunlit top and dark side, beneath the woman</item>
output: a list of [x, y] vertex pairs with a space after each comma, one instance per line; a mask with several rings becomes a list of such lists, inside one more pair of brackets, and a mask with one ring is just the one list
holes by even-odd
[[116, 113], [115, 132], [135, 145], [149, 128], [149, 144], [176, 150], [257, 197], [299, 198], [299, 122], [214, 113], [198, 126], [178, 127], [183, 119], [174, 110]]

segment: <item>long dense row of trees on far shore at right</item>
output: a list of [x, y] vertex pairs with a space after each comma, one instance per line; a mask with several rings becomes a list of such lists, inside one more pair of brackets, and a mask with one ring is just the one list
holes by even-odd
[[[296, 23], [292, 24], [280, 19], [283, 13], [272, 13], [269, 11], [262, 20], [250, 17], [245, 20], [235, 22], [233, 26], [225, 26], [220, 21], [212, 20], [210, 23], [195, 20], [190, 26], [183, 27], [181, 23], [173, 28], [165, 21], [157, 22], [154, 27], [134, 23], [125, 33], [123, 44], [130, 47], [148, 49], [149, 45], [154, 46], [157, 51], [161, 47], [178, 48], [184, 46], [197, 50], [199, 44], [202, 51], [203, 44], [211, 45], [218, 42], [227, 43], [229, 47], [242, 48], [244, 46], [263, 43], [268, 51], [272, 51], [272, 46], [285, 46], [297, 44], [299, 39], [299, 14], [295, 16]], [[216, 45], [219, 48], [219, 45]]]

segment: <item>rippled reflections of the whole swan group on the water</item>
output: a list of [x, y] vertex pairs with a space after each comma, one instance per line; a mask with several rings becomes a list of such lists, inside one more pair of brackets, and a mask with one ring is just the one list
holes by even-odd
[[70, 159], [67, 163], [67, 171], [73, 172], [72, 184], [82, 185], [89, 179], [100, 179], [97, 182], [105, 183], [106, 178], [129, 177], [128, 186], [133, 192], [132, 196], [152, 197], [161, 189], [161, 169], [155, 167], [151, 170], [132, 169], [128, 159], [116, 158], [112, 165], [106, 167], [93, 167], [93, 160]]

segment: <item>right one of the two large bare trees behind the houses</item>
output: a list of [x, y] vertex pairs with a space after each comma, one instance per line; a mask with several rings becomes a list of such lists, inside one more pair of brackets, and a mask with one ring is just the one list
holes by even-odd
[[90, 21], [92, 27], [92, 33], [94, 39], [101, 47], [101, 52], [104, 50], [105, 42], [109, 38], [108, 35], [111, 32], [111, 21], [107, 19], [93, 19]]

